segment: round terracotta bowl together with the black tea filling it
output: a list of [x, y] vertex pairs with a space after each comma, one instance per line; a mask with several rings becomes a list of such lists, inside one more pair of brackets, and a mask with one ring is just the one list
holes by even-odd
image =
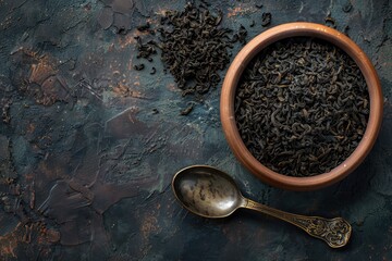
[[269, 185], [314, 190], [352, 173], [382, 122], [380, 80], [344, 34], [295, 22], [252, 39], [225, 74], [220, 119], [238, 161]]

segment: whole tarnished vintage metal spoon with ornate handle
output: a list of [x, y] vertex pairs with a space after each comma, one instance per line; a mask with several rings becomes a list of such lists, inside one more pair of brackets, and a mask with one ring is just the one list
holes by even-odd
[[173, 177], [172, 189], [187, 210], [205, 217], [225, 217], [236, 209], [252, 209], [292, 223], [332, 248], [345, 246], [352, 233], [351, 225], [342, 217], [328, 220], [291, 214], [244, 198], [234, 179], [207, 165], [193, 165], [179, 171]]

